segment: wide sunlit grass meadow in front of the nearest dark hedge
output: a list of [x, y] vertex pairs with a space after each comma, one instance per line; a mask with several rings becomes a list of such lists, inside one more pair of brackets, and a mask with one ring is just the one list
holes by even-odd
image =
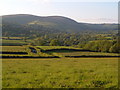
[[3, 88], [117, 88], [117, 58], [3, 59]]

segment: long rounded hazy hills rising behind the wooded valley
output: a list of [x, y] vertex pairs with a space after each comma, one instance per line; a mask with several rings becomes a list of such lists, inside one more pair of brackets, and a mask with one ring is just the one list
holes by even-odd
[[41, 17], [28, 14], [16, 14], [2, 16], [3, 36], [5, 32], [11, 34], [24, 34], [30, 32], [108, 32], [117, 30], [117, 24], [88, 24], [79, 23], [67, 17], [48, 16]]

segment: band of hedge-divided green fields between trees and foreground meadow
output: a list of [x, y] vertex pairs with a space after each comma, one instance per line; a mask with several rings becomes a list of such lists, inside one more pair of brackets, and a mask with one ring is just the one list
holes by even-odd
[[[36, 50], [32, 52], [29, 47]], [[81, 50], [81, 51], [76, 51]], [[66, 57], [66, 56], [118, 56], [116, 53], [90, 52], [84, 51], [81, 48], [66, 47], [66, 46], [2, 46], [0, 52], [5, 52], [1, 56], [33, 56], [33, 57]], [[13, 53], [12, 53], [13, 52]], [[16, 53], [18, 54], [16, 54]], [[25, 52], [27, 54], [21, 54]]]

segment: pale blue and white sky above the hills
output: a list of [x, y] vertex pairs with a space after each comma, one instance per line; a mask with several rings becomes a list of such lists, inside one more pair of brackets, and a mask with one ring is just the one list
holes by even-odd
[[65, 16], [85, 23], [117, 23], [118, 0], [1, 0], [0, 15]]

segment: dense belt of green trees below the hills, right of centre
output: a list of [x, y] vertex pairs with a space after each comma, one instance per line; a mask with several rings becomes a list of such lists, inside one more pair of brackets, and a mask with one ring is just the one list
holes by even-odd
[[[110, 36], [110, 35], [109, 35]], [[44, 35], [34, 39], [34, 45], [40, 46], [74, 46], [96, 52], [119, 53], [117, 36], [111, 39], [93, 34], [63, 34]]]

